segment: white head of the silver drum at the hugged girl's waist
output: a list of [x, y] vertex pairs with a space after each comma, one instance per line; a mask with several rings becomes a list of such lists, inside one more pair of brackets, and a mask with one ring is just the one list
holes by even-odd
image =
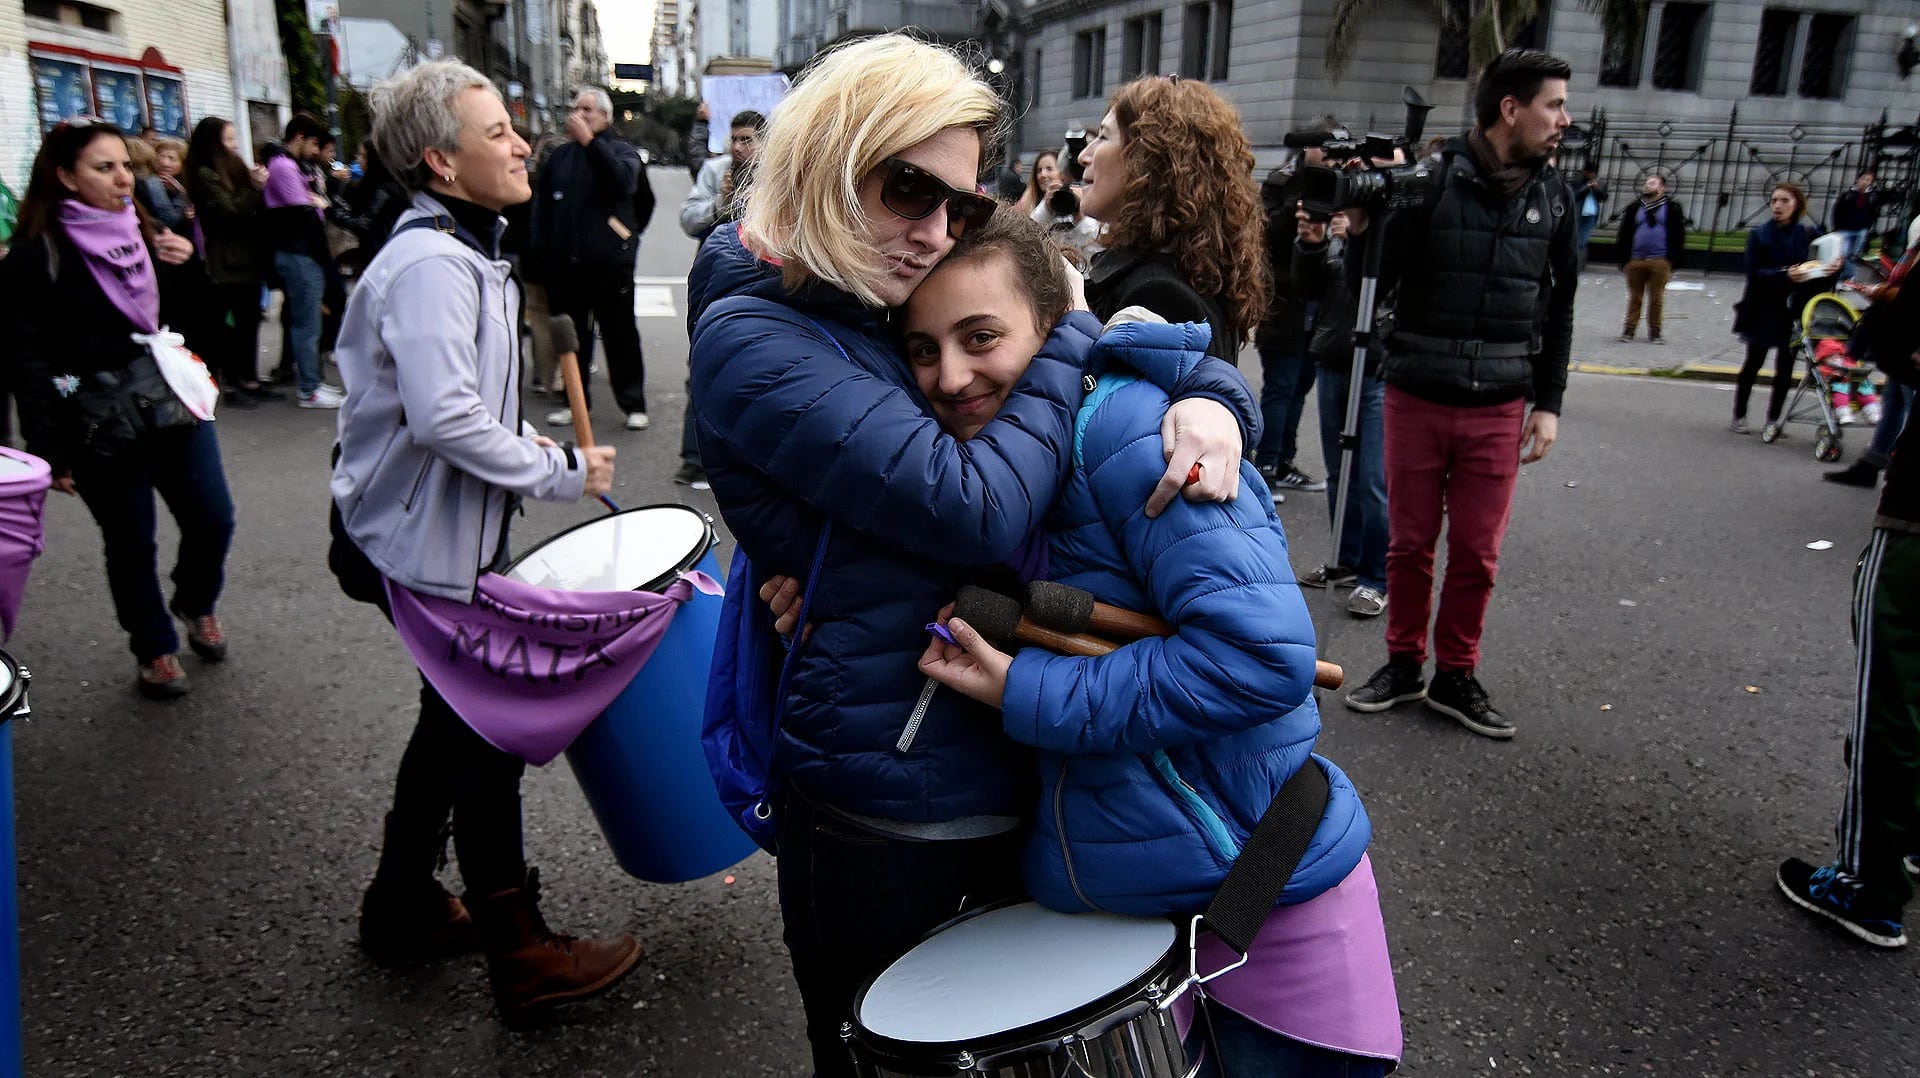
[[879, 974], [860, 1024], [918, 1043], [1046, 1022], [1139, 982], [1173, 947], [1171, 920], [995, 909], [922, 942]]

